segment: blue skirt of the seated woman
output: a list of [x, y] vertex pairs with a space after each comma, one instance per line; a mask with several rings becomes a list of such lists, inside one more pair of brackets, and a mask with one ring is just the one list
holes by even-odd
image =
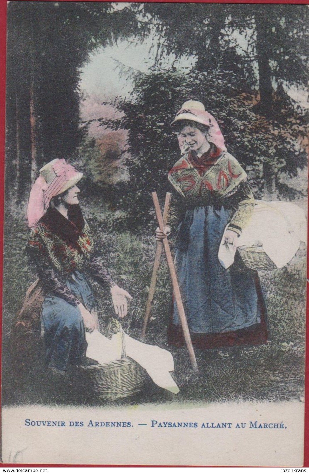
[[[75, 271], [66, 280], [69, 290], [90, 311], [95, 298], [85, 274]], [[66, 371], [81, 362], [86, 350], [85, 326], [78, 307], [64, 299], [47, 295], [43, 301], [41, 325], [46, 349], [46, 364]]]

